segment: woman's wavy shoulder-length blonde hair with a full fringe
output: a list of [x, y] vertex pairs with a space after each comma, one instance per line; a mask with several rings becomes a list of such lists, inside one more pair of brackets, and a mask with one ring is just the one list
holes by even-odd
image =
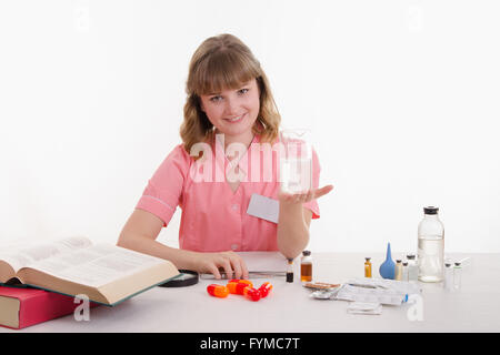
[[238, 89], [256, 79], [259, 87], [260, 109], [252, 128], [262, 142], [278, 138], [281, 116], [272, 98], [266, 73], [250, 49], [232, 34], [219, 34], [204, 40], [196, 50], [189, 64], [186, 83], [188, 98], [184, 104], [184, 120], [180, 135], [189, 153], [198, 142], [210, 143], [213, 124], [201, 110], [200, 95]]

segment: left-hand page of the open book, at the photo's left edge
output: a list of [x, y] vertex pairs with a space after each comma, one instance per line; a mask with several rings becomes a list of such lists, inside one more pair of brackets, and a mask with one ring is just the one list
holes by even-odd
[[1, 246], [0, 260], [9, 263], [16, 273], [32, 263], [42, 261], [61, 253], [71, 252], [78, 248], [84, 248], [92, 245], [92, 242], [86, 236], [70, 236], [62, 240], [38, 243], [38, 244], [11, 244]]

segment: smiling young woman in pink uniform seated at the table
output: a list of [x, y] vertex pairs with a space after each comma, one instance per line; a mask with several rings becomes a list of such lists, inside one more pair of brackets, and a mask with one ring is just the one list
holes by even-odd
[[[220, 270], [229, 278], [248, 277], [238, 251], [299, 255], [309, 242], [311, 219], [319, 217], [316, 200], [333, 186], [318, 189], [314, 153], [312, 189], [294, 194], [280, 190], [276, 151], [266, 159], [270, 155], [261, 149], [280, 141], [280, 115], [259, 61], [234, 36], [209, 38], [191, 59], [187, 94], [183, 143], [149, 180], [118, 245], [217, 278]], [[254, 194], [279, 201], [278, 223], [247, 213]], [[156, 239], [178, 205], [180, 248], [173, 248]]]

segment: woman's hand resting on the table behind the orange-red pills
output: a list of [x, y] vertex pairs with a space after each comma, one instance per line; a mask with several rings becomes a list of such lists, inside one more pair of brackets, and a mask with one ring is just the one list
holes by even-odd
[[243, 258], [232, 251], [197, 253], [194, 268], [199, 273], [211, 273], [217, 280], [222, 278], [220, 270], [226, 272], [228, 280], [248, 278], [248, 268]]

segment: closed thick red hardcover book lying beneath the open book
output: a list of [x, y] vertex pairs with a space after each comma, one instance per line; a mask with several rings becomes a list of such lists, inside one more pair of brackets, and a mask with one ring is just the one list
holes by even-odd
[[71, 314], [79, 305], [74, 297], [53, 292], [0, 286], [0, 325], [21, 329]]

